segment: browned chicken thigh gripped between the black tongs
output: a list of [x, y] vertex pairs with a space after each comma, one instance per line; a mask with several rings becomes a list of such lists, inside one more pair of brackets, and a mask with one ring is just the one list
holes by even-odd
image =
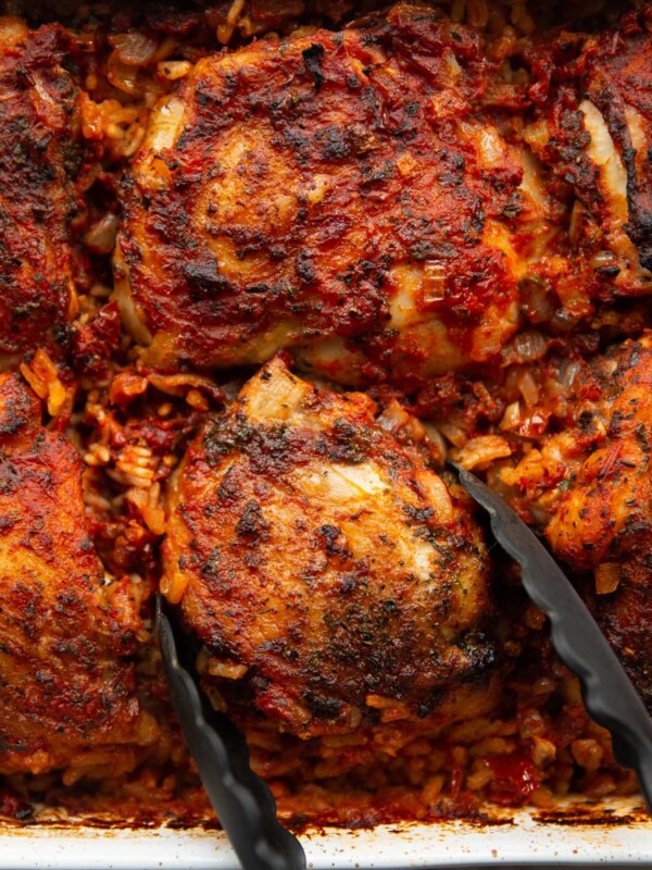
[[255, 707], [302, 737], [465, 718], [490, 695], [488, 556], [467, 507], [362, 394], [275, 358], [190, 446], [163, 591]]

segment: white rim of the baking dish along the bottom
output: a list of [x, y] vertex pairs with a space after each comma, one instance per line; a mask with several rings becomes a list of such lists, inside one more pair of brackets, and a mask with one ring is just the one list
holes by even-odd
[[[640, 800], [587, 809], [569, 805], [561, 821], [529, 810], [493, 823], [391, 824], [373, 830], [312, 830], [301, 835], [310, 870], [330, 868], [638, 866], [652, 867], [652, 820]], [[580, 821], [582, 819], [584, 821]], [[221, 832], [117, 830], [49, 823], [0, 828], [0, 869], [234, 870]]]

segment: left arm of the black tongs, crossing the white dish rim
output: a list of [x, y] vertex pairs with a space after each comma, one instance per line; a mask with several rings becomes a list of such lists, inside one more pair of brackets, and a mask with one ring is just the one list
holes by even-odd
[[[276, 818], [276, 801], [249, 766], [238, 729], [199, 688], [193, 654], [159, 594], [156, 630], [165, 675], [188, 748], [220, 823], [244, 870], [305, 870], [297, 837]], [[177, 643], [178, 638], [178, 643]]]

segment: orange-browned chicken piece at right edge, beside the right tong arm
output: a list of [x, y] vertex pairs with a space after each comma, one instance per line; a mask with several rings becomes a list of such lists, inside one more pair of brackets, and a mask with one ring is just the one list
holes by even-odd
[[594, 608], [652, 708], [652, 332], [595, 359], [573, 419], [503, 481], [546, 517], [553, 552], [594, 572]]

